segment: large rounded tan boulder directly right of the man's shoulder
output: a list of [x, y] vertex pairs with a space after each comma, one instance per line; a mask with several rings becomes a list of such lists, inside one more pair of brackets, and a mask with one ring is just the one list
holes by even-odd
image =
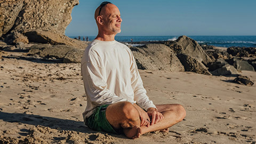
[[163, 44], [147, 44], [131, 47], [139, 69], [184, 71], [175, 53]]

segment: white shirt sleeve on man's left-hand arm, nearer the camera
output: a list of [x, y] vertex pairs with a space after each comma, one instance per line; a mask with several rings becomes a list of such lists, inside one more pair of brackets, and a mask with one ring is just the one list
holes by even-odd
[[[103, 77], [104, 70], [100, 65], [99, 55], [96, 52], [90, 51], [87, 62], [82, 65], [82, 75], [87, 98], [94, 105], [98, 106], [128, 101], [127, 99], [119, 98], [115, 93], [111, 93], [107, 89], [106, 78]], [[134, 102], [131, 103], [133, 104]]]

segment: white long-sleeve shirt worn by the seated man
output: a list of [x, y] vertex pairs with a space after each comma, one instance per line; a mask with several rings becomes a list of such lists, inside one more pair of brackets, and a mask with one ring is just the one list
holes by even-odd
[[84, 119], [97, 106], [121, 101], [137, 103], [146, 110], [156, 108], [146, 95], [132, 52], [126, 45], [94, 39], [84, 51], [81, 70], [87, 97]]

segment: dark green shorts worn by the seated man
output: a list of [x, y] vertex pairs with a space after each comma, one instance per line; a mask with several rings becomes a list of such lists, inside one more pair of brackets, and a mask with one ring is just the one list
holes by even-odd
[[85, 119], [85, 124], [94, 131], [105, 131], [118, 134], [106, 118], [106, 109], [109, 105], [102, 105], [95, 109], [94, 113]]

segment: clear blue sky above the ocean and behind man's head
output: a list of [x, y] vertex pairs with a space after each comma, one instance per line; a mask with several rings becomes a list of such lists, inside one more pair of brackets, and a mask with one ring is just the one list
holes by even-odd
[[[79, 0], [67, 36], [97, 36], [94, 20], [100, 0]], [[256, 35], [255, 0], [109, 1], [121, 12], [117, 36]]]

